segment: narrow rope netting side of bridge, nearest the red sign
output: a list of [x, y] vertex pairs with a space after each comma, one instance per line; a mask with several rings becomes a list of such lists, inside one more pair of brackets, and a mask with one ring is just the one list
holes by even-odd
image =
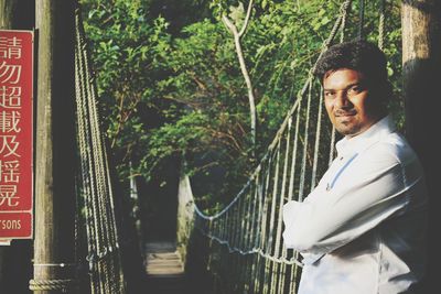
[[[75, 12], [75, 88], [80, 219], [87, 239], [92, 293], [126, 293], [118, 244], [112, 185], [97, 109], [97, 89], [79, 9]], [[83, 228], [79, 228], [83, 229]]]

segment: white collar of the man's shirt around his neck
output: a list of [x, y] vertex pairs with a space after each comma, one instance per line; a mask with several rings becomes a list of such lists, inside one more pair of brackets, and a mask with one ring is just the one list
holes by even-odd
[[335, 148], [337, 150], [338, 156], [354, 153], [367, 148], [372, 143], [379, 141], [385, 135], [395, 132], [396, 127], [390, 116], [386, 116], [366, 131], [357, 134], [355, 137], [344, 137], [340, 140]]

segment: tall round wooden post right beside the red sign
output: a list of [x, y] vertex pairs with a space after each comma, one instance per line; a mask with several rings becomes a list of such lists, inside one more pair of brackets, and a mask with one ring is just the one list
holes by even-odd
[[[62, 293], [61, 286], [75, 277], [74, 9], [74, 0], [35, 4], [35, 240], [30, 285], [42, 294]], [[51, 282], [60, 288], [50, 290]]]

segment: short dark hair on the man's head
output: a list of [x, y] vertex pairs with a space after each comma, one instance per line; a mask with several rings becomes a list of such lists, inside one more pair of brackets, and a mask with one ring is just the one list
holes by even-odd
[[323, 83], [327, 74], [337, 69], [357, 70], [364, 75], [367, 86], [387, 100], [391, 96], [391, 87], [386, 65], [386, 56], [377, 45], [355, 40], [333, 45], [325, 51], [316, 64], [314, 75]]

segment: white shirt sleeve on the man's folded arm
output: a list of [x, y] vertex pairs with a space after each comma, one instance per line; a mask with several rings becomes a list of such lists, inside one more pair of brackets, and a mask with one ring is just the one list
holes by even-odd
[[354, 161], [331, 190], [314, 189], [303, 203], [283, 206], [287, 248], [324, 254], [404, 211], [408, 183], [402, 164], [377, 149]]

